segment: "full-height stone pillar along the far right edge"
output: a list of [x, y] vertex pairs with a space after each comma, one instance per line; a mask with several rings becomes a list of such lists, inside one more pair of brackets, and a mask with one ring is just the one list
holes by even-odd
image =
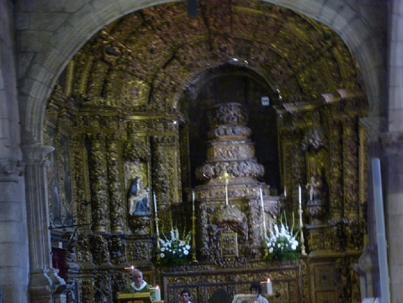
[[403, 1], [389, 5], [387, 207], [388, 257], [391, 301], [403, 298]]

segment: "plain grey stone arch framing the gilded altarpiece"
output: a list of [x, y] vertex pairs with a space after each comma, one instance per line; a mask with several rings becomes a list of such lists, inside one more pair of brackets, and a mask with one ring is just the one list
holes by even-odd
[[[385, 73], [385, 70], [379, 67], [382, 66], [382, 54], [379, 48], [371, 49], [371, 46], [377, 43], [377, 37], [367, 27], [358, 12], [341, 1], [338, 4], [325, 0], [314, 2], [302, 0], [297, 3], [292, 0], [266, 1], [290, 8], [335, 30], [351, 50], [361, 68], [370, 102], [370, 114], [375, 116], [383, 114], [384, 109], [379, 108], [379, 100], [384, 98], [379, 80]], [[169, 1], [88, 0], [83, 5], [79, 4], [79, 7], [69, 7], [67, 11], [76, 9], [73, 13], [59, 13], [60, 22], [52, 25], [44, 23], [42, 25], [44, 28], [34, 31], [20, 30], [21, 41], [28, 35], [40, 38], [39, 40], [26, 39], [28, 45], [20, 46], [21, 52], [18, 57], [21, 63], [18, 81], [24, 142], [43, 141], [42, 125], [47, 97], [67, 62], [94, 32], [130, 12], [166, 2]], [[39, 13], [31, 12], [30, 14], [32, 18], [40, 17]], [[43, 32], [45, 29], [46, 34]], [[23, 62], [26, 64], [22, 64]]]

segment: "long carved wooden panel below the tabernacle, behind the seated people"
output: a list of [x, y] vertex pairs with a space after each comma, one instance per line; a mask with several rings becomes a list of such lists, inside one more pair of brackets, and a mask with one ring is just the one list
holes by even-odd
[[[300, 265], [277, 265], [261, 263], [258, 267], [242, 269], [218, 269], [213, 265], [201, 265], [184, 271], [162, 272], [165, 303], [180, 303], [180, 292], [185, 288], [191, 292], [191, 301], [197, 303], [207, 303], [219, 289], [224, 289], [232, 297], [248, 294], [251, 282], [267, 281], [267, 278], [273, 282], [274, 294], [268, 296], [270, 303], [302, 302]], [[266, 295], [264, 287], [263, 295]]]

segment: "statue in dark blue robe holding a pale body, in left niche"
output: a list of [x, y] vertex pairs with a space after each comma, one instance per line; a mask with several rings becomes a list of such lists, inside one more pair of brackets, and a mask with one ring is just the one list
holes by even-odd
[[150, 215], [150, 189], [141, 188], [142, 180], [136, 176], [127, 192], [129, 215]]

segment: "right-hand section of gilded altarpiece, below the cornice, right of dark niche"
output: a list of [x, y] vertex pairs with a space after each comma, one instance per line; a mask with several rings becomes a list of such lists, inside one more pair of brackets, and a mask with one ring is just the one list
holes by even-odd
[[[316, 103], [289, 103], [278, 113], [285, 204], [303, 209], [313, 303], [360, 301], [351, 270], [366, 244], [366, 113], [360, 92], [340, 90]], [[302, 193], [298, 196], [298, 187]], [[349, 270], [348, 270], [349, 268]]]

